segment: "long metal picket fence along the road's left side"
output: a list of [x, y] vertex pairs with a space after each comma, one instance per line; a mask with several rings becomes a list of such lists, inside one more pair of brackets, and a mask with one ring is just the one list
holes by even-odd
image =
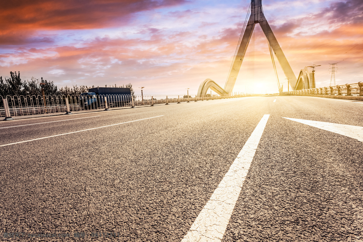
[[[66, 112], [71, 114], [75, 111], [107, 110], [108, 108], [153, 106], [156, 104], [169, 104], [181, 102], [196, 102], [223, 98], [245, 97], [246, 95], [235, 95], [228, 97], [197, 97], [196, 95], [53, 95], [53, 96], [0, 96], [0, 117], [26, 116], [36, 114], [50, 114]], [[4, 99], [8, 107], [4, 106]], [[68, 100], [68, 102], [66, 102]]]

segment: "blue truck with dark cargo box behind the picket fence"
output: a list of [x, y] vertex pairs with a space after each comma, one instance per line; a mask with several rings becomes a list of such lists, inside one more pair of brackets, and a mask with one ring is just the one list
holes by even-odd
[[87, 93], [82, 93], [79, 99], [81, 106], [88, 109], [102, 106], [105, 97], [109, 106], [115, 102], [117, 106], [125, 106], [125, 103], [131, 100], [131, 90], [127, 87], [95, 87], [88, 89]]

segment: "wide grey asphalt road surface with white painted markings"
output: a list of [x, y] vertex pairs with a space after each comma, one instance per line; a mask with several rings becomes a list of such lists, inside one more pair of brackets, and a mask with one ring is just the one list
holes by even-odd
[[362, 242], [362, 127], [293, 96], [0, 122], [0, 241]]

